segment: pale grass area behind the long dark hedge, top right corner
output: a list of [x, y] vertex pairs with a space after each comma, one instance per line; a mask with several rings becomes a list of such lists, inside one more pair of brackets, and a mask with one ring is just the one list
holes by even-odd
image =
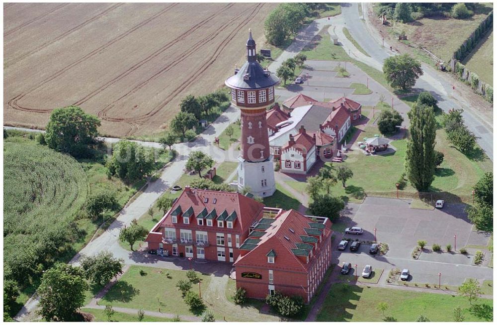
[[490, 86], [494, 85], [494, 32], [484, 37], [476, 48], [461, 62]]

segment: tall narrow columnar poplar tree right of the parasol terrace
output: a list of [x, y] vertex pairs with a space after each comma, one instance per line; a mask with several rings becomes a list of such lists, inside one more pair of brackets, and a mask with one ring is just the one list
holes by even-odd
[[435, 178], [435, 131], [433, 110], [414, 104], [408, 112], [411, 138], [406, 150], [406, 173], [418, 191], [426, 191]]

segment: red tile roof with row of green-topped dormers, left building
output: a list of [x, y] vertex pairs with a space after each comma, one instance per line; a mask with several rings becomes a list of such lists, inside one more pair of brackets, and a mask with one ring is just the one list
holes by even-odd
[[[207, 202], [205, 200], [207, 199]], [[214, 203], [214, 199], [216, 202]], [[181, 207], [181, 211], [184, 213], [190, 207], [193, 208], [193, 218], [198, 214], [207, 209], [207, 213], [216, 209], [217, 215], [221, 215], [223, 211], [227, 211], [228, 216], [230, 216], [233, 211], [236, 212], [237, 218], [233, 223], [234, 231], [245, 231], [253, 223], [254, 220], [258, 220], [262, 217], [262, 209], [264, 205], [253, 199], [250, 199], [238, 192], [222, 192], [222, 191], [210, 191], [210, 190], [199, 190], [190, 189], [185, 187], [183, 193], [177, 198], [177, 200], [172, 205], [169, 210], [168, 215], [161, 224], [161, 227], [188, 227], [187, 224], [182, 223], [182, 220], [178, 218], [178, 223], [172, 223], [171, 218], [168, 217], [178, 206]], [[190, 218], [190, 225], [196, 226], [196, 222], [192, 222]], [[214, 222], [214, 226], [216, 222]]]

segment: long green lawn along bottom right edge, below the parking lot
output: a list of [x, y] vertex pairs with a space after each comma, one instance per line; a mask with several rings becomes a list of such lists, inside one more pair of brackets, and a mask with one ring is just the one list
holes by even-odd
[[[482, 321], [470, 312], [470, 304], [464, 297], [350, 284], [331, 287], [316, 321], [381, 322], [384, 316], [376, 309], [380, 302], [388, 304], [385, 316], [392, 316], [398, 322], [415, 322], [419, 315], [431, 322], [452, 322], [457, 306], [463, 309], [465, 321]], [[491, 307], [493, 300], [480, 299], [478, 304]], [[492, 313], [488, 307], [482, 310], [487, 315]]]

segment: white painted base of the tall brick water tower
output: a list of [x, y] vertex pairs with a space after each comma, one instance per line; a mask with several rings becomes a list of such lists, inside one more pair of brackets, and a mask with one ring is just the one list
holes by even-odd
[[255, 196], [266, 198], [276, 191], [274, 181], [273, 156], [261, 162], [249, 162], [238, 157], [238, 191], [242, 192], [244, 187], [250, 188], [250, 193]]

